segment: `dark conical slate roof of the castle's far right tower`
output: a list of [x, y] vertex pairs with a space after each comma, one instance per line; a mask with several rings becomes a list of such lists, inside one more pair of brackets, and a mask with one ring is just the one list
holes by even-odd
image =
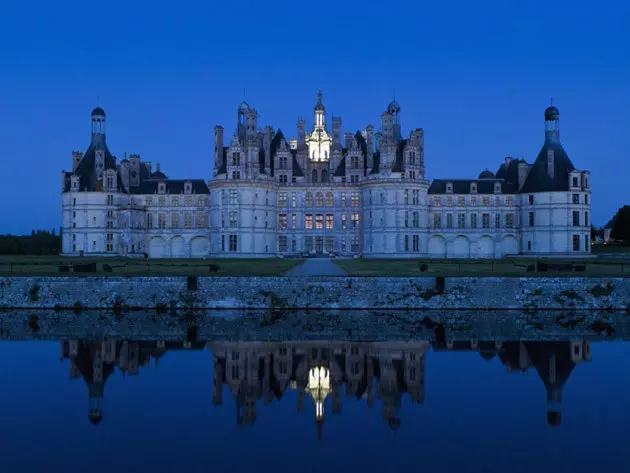
[[[547, 166], [547, 153], [554, 153], [553, 178], [549, 177]], [[569, 172], [575, 170], [575, 166], [569, 159], [560, 141], [547, 138], [534, 164], [532, 165], [522, 193], [556, 192], [569, 190]]]

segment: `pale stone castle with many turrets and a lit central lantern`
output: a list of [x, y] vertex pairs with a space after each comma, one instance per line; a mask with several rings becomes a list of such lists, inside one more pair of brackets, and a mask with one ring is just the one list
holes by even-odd
[[588, 171], [560, 144], [559, 111], [544, 112], [533, 164], [505, 158], [476, 179], [425, 178], [424, 131], [404, 138], [400, 106], [381, 126], [345, 132], [326, 121], [317, 94], [313, 126], [297, 137], [259, 128], [243, 102], [236, 130], [214, 128], [213, 179], [169, 179], [137, 154], [117, 162], [105, 112], [92, 111], [91, 143], [62, 172], [64, 255], [150, 258], [501, 258], [590, 253]]

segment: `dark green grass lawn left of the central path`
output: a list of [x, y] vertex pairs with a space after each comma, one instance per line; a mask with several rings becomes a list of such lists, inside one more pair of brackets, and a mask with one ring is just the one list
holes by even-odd
[[[0, 276], [281, 276], [302, 259], [123, 259], [0, 256]], [[96, 272], [60, 272], [96, 263]], [[214, 266], [214, 267], [213, 267]], [[105, 268], [108, 267], [108, 268]], [[111, 268], [111, 271], [105, 269]]]

